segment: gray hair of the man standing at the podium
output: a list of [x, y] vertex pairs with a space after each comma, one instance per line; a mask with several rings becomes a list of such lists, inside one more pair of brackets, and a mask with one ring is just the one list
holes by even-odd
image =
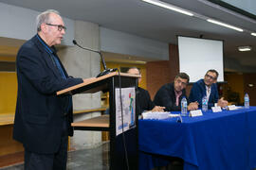
[[37, 17], [36, 17], [36, 28], [37, 28], [37, 32], [41, 31], [41, 25], [43, 23], [50, 23], [50, 17], [49, 14], [50, 13], [56, 13], [57, 15], [60, 15], [60, 12], [54, 9], [47, 9], [46, 11], [40, 13]]

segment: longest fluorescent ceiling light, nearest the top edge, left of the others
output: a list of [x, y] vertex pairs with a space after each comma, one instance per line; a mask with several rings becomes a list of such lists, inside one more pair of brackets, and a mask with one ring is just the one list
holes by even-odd
[[162, 7], [162, 8], [168, 8], [168, 9], [174, 10], [176, 12], [183, 13], [185, 15], [193, 16], [192, 12], [189, 12], [189, 11], [187, 11], [185, 9], [182, 9], [182, 8], [175, 7], [171, 4], [168, 4], [168, 3], [165, 3], [165, 2], [162, 2], [162, 1], [157, 1], [157, 0], [142, 0], [142, 1], [153, 4], [155, 6]]

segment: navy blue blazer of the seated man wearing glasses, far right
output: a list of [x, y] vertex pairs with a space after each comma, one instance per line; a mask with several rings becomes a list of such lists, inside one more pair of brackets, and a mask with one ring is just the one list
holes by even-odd
[[[190, 101], [199, 103], [199, 108], [202, 108], [202, 98], [206, 95], [206, 84], [204, 79], [196, 81], [192, 85], [192, 90], [190, 93]], [[210, 97], [208, 101], [208, 108], [214, 106], [214, 103], [217, 103], [219, 99], [217, 84], [214, 83], [210, 86]]]

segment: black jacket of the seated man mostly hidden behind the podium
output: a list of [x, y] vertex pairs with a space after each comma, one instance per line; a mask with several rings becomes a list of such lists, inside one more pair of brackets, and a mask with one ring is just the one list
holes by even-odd
[[144, 110], [153, 110], [155, 104], [151, 100], [148, 91], [137, 87], [137, 97], [138, 97], [138, 114], [141, 114]]

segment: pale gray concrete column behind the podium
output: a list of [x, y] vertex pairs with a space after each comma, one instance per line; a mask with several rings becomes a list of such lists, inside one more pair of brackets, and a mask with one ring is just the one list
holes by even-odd
[[[89, 22], [75, 21], [75, 40], [90, 49], [100, 49], [99, 26]], [[59, 53], [68, 75], [88, 78], [100, 73], [100, 55], [69, 46]], [[101, 92], [81, 93], [73, 96], [74, 110], [101, 108]], [[74, 115], [74, 122], [101, 115], [101, 112]], [[71, 149], [94, 147], [101, 144], [101, 131], [75, 130], [70, 138]]]

